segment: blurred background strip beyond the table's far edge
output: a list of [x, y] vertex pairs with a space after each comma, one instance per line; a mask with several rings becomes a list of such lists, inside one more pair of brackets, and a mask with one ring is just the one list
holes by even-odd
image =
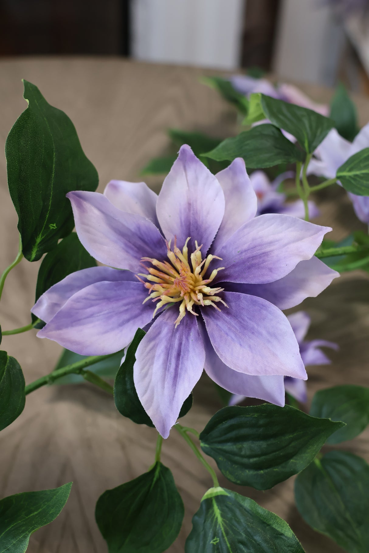
[[0, 56], [116, 55], [369, 93], [369, 0], [0, 0]]

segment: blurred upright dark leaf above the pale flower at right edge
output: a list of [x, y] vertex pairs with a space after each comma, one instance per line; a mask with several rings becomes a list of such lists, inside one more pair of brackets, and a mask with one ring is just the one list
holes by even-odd
[[356, 107], [342, 83], [337, 86], [330, 106], [329, 117], [335, 122], [335, 128], [341, 137], [352, 142], [359, 131]]

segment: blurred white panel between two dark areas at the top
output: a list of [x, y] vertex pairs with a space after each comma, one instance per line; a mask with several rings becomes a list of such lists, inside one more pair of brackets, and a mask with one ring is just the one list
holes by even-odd
[[235, 69], [240, 65], [245, 4], [246, 0], [132, 0], [132, 56]]

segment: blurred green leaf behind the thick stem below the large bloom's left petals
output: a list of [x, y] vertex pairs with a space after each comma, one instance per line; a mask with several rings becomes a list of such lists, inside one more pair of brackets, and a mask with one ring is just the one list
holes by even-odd
[[[118, 351], [112, 357], [108, 357], [107, 359], [103, 359], [103, 361], [91, 365], [89, 371], [97, 374], [101, 378], [114, 379], [121, 366], [123, 354], [124, 351], [122, 349], [122, 351]], [[80, 355], [79, 353], [69, 351], [69, 349], [64, 349], [54, 370], [61, 369], [61, 367], [71, 365], [72, 363], [77, 363], [77, 361], [82, 361], [82, 359], [86, 359], [86, 357], [86, 355]], [[85, 382], [85, 378], [81, 374], [67, 374], [65, 377], [57, 378], [51, 382], [50, 385], [81, 384], [83, 382]]]

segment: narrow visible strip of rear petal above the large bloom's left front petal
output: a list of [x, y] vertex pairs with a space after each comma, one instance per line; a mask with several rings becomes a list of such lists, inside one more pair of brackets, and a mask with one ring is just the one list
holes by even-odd
[[31, 311], [41, 321], [49, 322], [56, 312], [63, 307], [72, 295], [101, 281], [116, 282], [131, 280], [137, 282], [137, 278], [131, 271], [121, 271], [111, 267], [90, 267], [67, 275], [63, 280], [51, 286], [49, 290], [40, 296]]

